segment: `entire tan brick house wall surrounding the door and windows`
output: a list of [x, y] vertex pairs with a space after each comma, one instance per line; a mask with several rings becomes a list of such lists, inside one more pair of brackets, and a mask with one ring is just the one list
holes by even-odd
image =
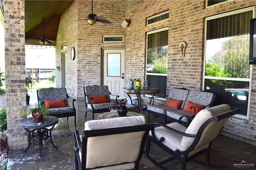
[[[150, 2], [150, 3], [149, 3]], [[204, 0], [94, 0], [93, 13], [106, 16], [113, 24], [87, 24], [80, 16], [91, 13], [91, 2], [74, 1], [62, 15], [56, 45], [56, 66], [61, 64], [60, 45], [68, 42], [68, 92], [76, 98], [83, 98], [82, 87], [85, 84], [101, 84], [102, 48], [126, 48], [126, 79], [145, 79], [146, 32], [169, 27], [168, 36], [168, 78], [167, 93], [170, 88], [184, 87], [202, 90], [202, 68], [204, 51], [204, 18], [232, 10], [255, 6], [254, 0], [230, 1], [211, 8], [205, 8]], [[170, 10], [169, 20], [146, 26], [146, 18]], [[124, 19], [130, 19], [127, 29], [121, 27]], [[104, 35], [124, 35], [124, 43], [102, 43]], [[180, 55], [179, 44], [187, 43], [185, 56]], [[76, 60], [70, 59], [70, 49], [76, 47]], [[231, 118], [224, 131], [256, 141], [256, 81], [255, 66], [252, 73], [252, 93], [250, 116], [248, 120]], [[60, 73], [58, 74], [60, 77]], [[144, 82], [142, 82], [144, 84]], [[57, 85], [61, 86], [58, 80]], [[142, 98], [148, 103], [148, 98]], [[156, 103], [164, 101], [156, 100]]]

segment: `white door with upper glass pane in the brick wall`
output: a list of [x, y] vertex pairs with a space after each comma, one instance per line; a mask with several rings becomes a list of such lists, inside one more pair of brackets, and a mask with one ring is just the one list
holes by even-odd
[[[103, 50], [103, 85], [118, 99], [124, 98], [124, 54], [124, 49]], [[115, 99], [111, 95], [110, 98]]]

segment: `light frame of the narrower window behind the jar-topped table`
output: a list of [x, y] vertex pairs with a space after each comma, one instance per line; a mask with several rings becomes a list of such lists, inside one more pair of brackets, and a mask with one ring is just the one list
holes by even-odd
[[[160, 28], [160, 29], [157, 29], [157, 30], [152, 30], [152, 31], [148, 31], [146, 32], [146, 65], [147, 65], [147, 60], [148, 60], [148, 34], [154, 34], [156, 32], [161, 32], [161, 31], [166, 31], [168, 30], [168, 34], [169, 34], [169, 27], [164, 27], [164, 28]], [[168, 46], [168, 44], [167, 44]], [[168, 55], [167, 55], [167, 59], [168, 59]], [[168, 64], [168, 63], [167, 63]], [[167, 70], [168, 71], [168, 70]], [[162, 73], [147, 73], [147, 69], [145, 69], [145, 76], [147, 77], [147, 75], [152, 75], [152, 76], [166, 76], [167, 78], [167, 74], [162, 74]], [[166, 82], [166, 87], [167, 87], [167, 82]], [[166, 92], [167, 92], [167, 89], [166, 89]], [[166, 95], [166, 94], [165, 94]], [[152, 97], [152, 95], [149, 95], [149, 94], [145, 94], [145, 96], [147, 97]], [[159, 100], [164, 100], [166, 101], [166, 97], [165, 98], [157, 98]]]

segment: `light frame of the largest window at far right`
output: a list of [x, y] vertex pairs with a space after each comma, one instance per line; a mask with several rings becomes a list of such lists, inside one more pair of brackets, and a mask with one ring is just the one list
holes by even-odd
[[[233, 14], [238, 14], [238, 13], [242, 13], [242, 12], [247, 12], [247, 11], [252, 11], [252, 18], [254, 18], [255, 15], [255, 7], [248, 7], [248, 8], [244, 8], [244, 9], [240, 9], [240, 10], [235, 10], [232, 12], [226, 12], [223, 14], [218, 14], [215, 16], [210, 16], [210, 17], [206, 17], [204, 19], [205, 21], [205, 25], [204, 25], [204, 60], [203, 60], [203, 77], [202, 77], [202, 90], [204, 89], [204, 83], [205, 83], [205, 79], [215, 79], [215, 80], [231, 80], [231, 81], [244, 81], [244, 82], [249, 82], [249, 96], [248, 96], [248, 106], [247, 106], [247, 114], [246, 116], [243, 116], [241, 114], [236, 114], [234, 115], [234, 117], [237, 118], [243, 118], [243, 119], [249, 119], [249, 113], [250, 113], [250, 94], [251, 94], [251, 88], [252, 88], [252, 65], [250, 65], [250, 78], [226, 78], [226, 77], [212, 77], [212, 76], [205, 76], [205, 67], [206, 67], [206, 34], [207, 34], [207, 21], [208, 20], [212, 20], [212, 19], [216, 19], [216, 18], [222, 18], [224, 16], [229, 16], [229, 15], [233, 15]], [[250, 34], [250, 33], [249, 33]], [[249, 56], [248, 56], [249, 58]]]

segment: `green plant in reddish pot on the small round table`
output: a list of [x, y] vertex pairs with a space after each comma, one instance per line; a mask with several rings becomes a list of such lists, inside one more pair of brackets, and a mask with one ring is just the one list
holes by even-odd
[[27, 115], [32, 115], [36, 122], [42, 122], [49, 113], [49, 108], [45, 108], [44, 106], [38, 104], [37, 106], [30, 106], [27, 109], [22, 110], [20, 117], [26, 118]]

